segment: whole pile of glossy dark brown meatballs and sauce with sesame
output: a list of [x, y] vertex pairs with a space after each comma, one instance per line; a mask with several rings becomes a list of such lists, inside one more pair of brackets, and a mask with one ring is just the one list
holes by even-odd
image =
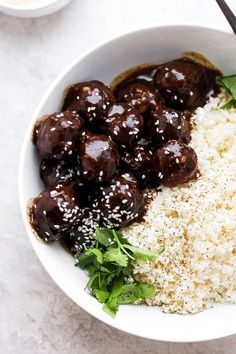
[[152, 200], [147, 191], [195, 179], [189, 118], [218, 94], [218, 75], [206, 58], [188, 52], [131, 68], [110, 89], [96, 80], [67, 88], [63, 112], [34, 127], [47, 189], [34, 199], [29, 218], [40, 238], [59, 240], [74, 254], [92, 247], [99, 226], [142, 222]]

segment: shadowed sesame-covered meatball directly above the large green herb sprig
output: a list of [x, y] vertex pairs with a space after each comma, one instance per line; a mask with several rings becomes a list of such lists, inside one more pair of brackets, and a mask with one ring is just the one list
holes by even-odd
[[99, 227], [97, 216], [88, 208], [82, 209], [76, 218], [73, 229], [65, 236], [64, 243], [73, 254], [84, 252], [94, 247], [94, 232]]

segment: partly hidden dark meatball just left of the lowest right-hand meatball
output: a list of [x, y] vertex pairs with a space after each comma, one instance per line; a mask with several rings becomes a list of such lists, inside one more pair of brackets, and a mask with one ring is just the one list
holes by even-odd
[[142, 187], [156, 187], [159, 180], [153, 171], [153, 149], [147, 142], [140, 142], [132, 153], [127, 152], [122, 158], [126, 171], [131, 172]]

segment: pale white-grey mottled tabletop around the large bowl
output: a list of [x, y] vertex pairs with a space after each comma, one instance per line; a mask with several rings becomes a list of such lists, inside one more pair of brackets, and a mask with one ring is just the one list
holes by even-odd
[[[228, 2], [236, 10], [236, 1]], [[124, 334], [86, 314], [40, 265], [18, 206], [17, 167], [24, 132], [57, 74], [100, 40], [173, 21], [228, 26], [214, 0], [74, 0], [41, 19], [0, 14], [0, 353], [236, 352], [236, 336], [195, 344], [160, 343]]]

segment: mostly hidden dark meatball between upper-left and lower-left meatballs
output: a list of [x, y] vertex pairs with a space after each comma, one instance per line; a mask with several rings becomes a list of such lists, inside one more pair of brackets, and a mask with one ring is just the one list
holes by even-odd
[[80, 183], [79, 160], [42, 160], [40, 164], [40, 177], [46, 187], [58, 184]]

